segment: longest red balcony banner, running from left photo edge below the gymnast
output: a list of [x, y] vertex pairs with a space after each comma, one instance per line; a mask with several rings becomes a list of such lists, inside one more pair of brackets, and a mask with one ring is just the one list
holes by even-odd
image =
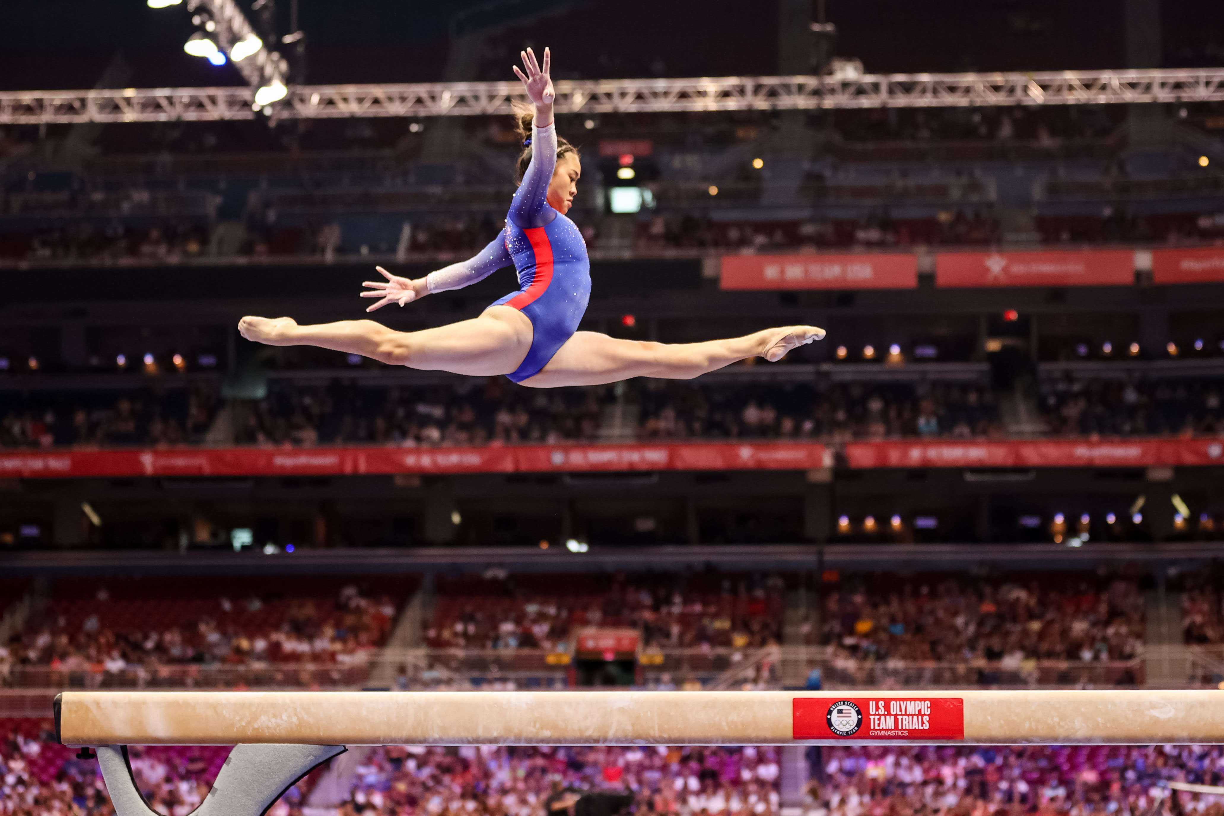
[[832, 453], [814, 443], [523, 445], [486, 448], [222, 448], [0, 454], [0, 477], [329, 476], [630, 470], [808, 470]]

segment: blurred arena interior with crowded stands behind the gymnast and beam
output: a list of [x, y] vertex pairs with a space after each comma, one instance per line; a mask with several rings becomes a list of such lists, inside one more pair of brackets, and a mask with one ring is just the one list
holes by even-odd
[[[0, 816], [131, 816], [65, 691], [1224, 689], [1213, 4], [7, 6]], [[498, 235], [546, 45], [579, 328], [823, 340], [530, 388], [239, 334], [513, 289], [359, 299]], [[229, 756], [127, 754], [162, 816]], [[1224, 816], [1224, 751], [351, 746], [269, 812]]]

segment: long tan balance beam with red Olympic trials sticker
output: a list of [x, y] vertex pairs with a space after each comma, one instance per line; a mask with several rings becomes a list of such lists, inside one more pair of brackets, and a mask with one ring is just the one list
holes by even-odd
[[1224, 743], [1224, 692], [66, 691], [65, 745]]

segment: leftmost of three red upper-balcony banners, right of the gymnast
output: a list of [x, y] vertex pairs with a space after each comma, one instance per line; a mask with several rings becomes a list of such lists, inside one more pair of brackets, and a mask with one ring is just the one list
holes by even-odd
[[726, 254], [720, 289], [916, 289], [918, 258], [896, 254]]

